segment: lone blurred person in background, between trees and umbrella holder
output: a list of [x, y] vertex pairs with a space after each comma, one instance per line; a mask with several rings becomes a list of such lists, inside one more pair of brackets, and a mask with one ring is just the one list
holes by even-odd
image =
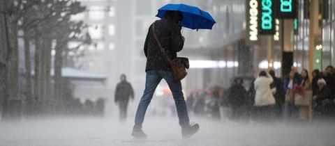
[[121, 74], [120, 79], [121, 81], [117, 83], [115, 90], [114, 102], [119, 106], [120, 122], [124, 122], [127, 117], [129, 99], [134, 99], [134, 91], [131, 83], [127, 81], [125, 74]]

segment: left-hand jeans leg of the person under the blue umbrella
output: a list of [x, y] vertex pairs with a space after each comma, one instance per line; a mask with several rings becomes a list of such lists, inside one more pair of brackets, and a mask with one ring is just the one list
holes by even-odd
[[152, 96], [158, 86], [158, 83], [161, 82], [162, 77], [157, 74], [154, 70], [149, 70], [147, 72], [146, 80], [145, 80], [145, 89], [143, 92], [143, 96], [140, 99], [140, 103], [138, 104], [136, 115], [135, 115], [135, 126], [134, 129], [142, 129], [142, 123], [144, 120], [145, 112], [151, 102]]

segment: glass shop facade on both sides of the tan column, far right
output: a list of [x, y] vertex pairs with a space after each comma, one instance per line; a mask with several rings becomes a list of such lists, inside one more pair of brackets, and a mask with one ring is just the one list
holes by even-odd
[[[315, 41], [315, 46], [319, 46], [321, 51], [321, 69], [324, 70], [328, 65], [335, 65], [335, 0], [320, 1], [319, 14], [322, 20], [319, 21], [322, 31], [320, 42]], [[298, 5], [298, 29], [295, 34], [295, 66], [308, 69], [308, 36], [309, 36], [309, 1], [299, 0]], [[315, 54], [314, 54], [315, 56]]]

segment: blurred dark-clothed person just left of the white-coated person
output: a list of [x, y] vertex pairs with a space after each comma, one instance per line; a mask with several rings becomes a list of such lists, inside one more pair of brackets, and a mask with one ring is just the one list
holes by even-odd
[[246, 101], [246, 89], [243, 86], [243, 79], [234, 79], [228, 94], [230, 118], [232, 120], [240, 120], [241, 115], [244, 113], [244, 104]]

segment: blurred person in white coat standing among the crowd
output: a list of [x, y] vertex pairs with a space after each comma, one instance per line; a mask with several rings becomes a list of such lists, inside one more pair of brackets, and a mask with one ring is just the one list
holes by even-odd
[[274, 105], [276, 101], [274, 99], [273, 92], [270, 84], [274, 81], [269, 73], [261, 71], [258, 78], [255, 79], [255, 106], [256, 106], [256, 117], [257, 120], [271, 120], [274, 115]]

